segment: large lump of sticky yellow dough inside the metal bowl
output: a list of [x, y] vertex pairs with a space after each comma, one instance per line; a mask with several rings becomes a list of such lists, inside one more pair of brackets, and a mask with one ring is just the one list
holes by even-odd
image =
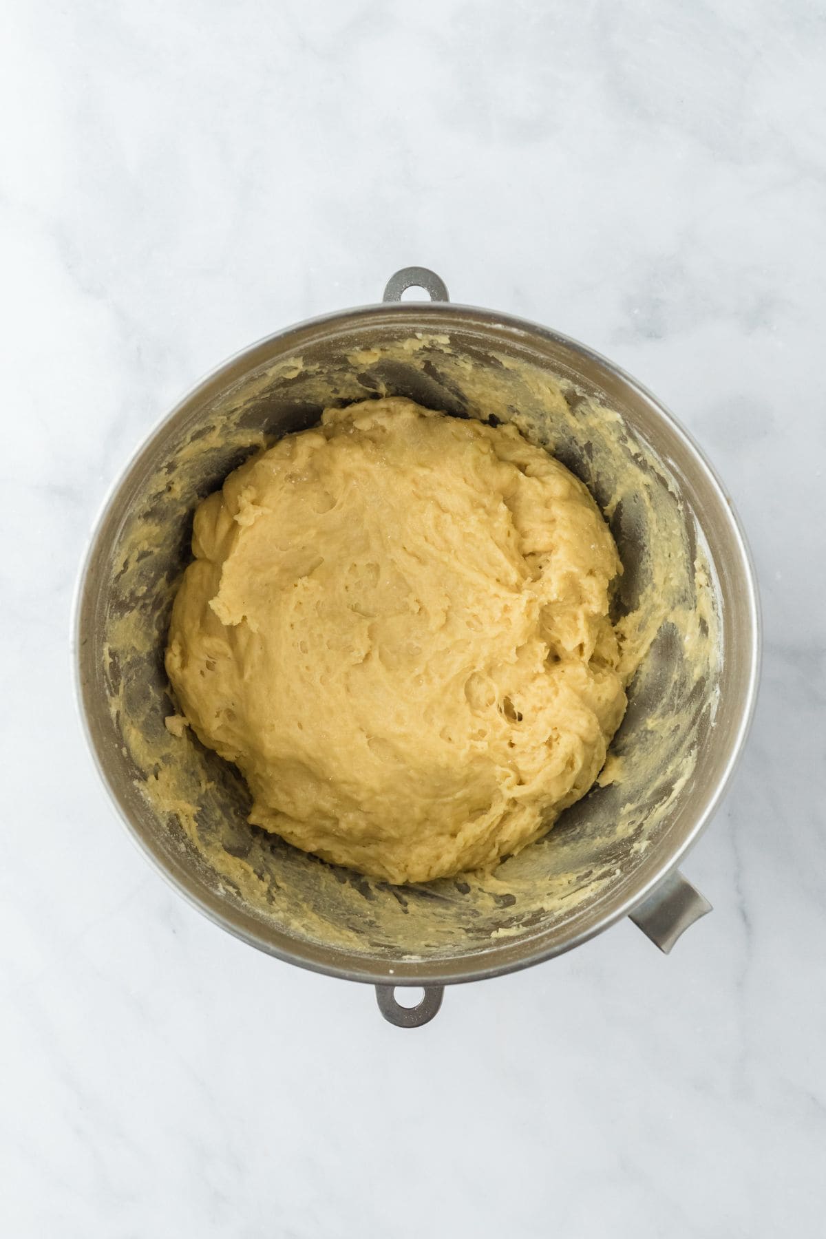
[[166, 667], [250, 821], [390, 882], [492, 867], [582, 797], [625, 709], [622, 571], [509, 425], [329, 409], [198, 507]]

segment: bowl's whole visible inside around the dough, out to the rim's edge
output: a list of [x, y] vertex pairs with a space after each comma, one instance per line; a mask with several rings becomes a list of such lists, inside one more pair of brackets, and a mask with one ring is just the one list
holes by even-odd
[[[188, 730], [177, 737], [165, 726], [175, 709], [166, 631], [198, 501], [324, 406], [372, 395], [516, 420], [594, 494], [624, 564], [617, 613], [639, 611], [651, 624], [612, 747], [615, 781], [489, 878], [393, 887], [305, 855], [249, 826], [238, 772]], [[103, 517], [78, 624], [93, 748], [167, 876], [274, 954], [409, 981], [504, 971], [627, 911], [713, 807], [744, 726], [755, 641], [748, 565], [724, 499], [646, 393], [562, 337], [483, 311], [409, 304], [293, 328], [192, 393]]]

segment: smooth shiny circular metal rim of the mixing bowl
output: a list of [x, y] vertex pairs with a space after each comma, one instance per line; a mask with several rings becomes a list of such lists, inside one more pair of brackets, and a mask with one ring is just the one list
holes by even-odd
[[[602, 916], [599, 916], [592, 924], [581, 927], [568, 939], [562, 942], [542, 943], [544, 933], [540, 930], [533, 937], [528, 935], [525, 938], [514, 938], [511, 943], [506, 943], [497, 948], [482, 949], [464, 957], [446, 955], [433, 957], [431, 959], [399, 958], [395, 960], [383, 960], [375, 957], [362, 955], [357, 952], [322, 947], [315, 944], [310, 939], [293, 937], [280, 929], [272, 930], [275, 940], [270, 940], [261, 933], [255, 932], [255, 929], [250, 926], [244, 924], [243, 913], [233, 904], [223, 901], [218, 895], [209, 891], [201, 881], [192, 880], [189, 882], [185, 882], [182, 878], [178, 878], [178, 876], [173, 872], [168, 856], [163, 855], [160, 849], [154, 846], [152, 840], [144, 835], [144, 833], [126, 813], [107, 774], [100, 752], [98, 751], [92, 735], [84, 698], [82, 672], [83, 636], [80, 633], [80, 623], [83, 620], [84, 603], [89, 590], [90, 571], [95, 560], [98, 543], [105, 529], [110, 509], [114, 507], [118, 494], [120, 493], [123, 486], [128, 482], [135, 466], [144, 457], [144, 455], [150, 451], [155, 440], [165, 431], [168, 422], [171, 422], [194, 401], [203, 401], [209, 395], [211, 389], [215, 389], [215, 393], [217, 390], [224, 389], [228, 385], [228, 377], [241, 363], [245, 364], [246, 370], [254, 369], [258, 364], [263, 363], [265, 356], [271, 352], [274, 346], [280, 346], [284, 352], [289, 352], [293, 348], [293, 343], [291, 343], [293, 337], [317, 331], [329, 333], [337, 327], [347, 327], [348, 330], [352, 330], [357, 326], [354, 320], [364, 318], [365, 316], [369, 320], [375, 320], [376, 316], [386, 316], [389, 320], [398, 318], [400, 321], [412, 320], [416, 317], [426, 320], [428, 317], [435, 318], [437, 316], [447, 318], [471, 316], [474, 320], [472, 326], [479, 326], [482, 328], [499, 327], [514, 333], [515, 336], [521, 335], [526, 338], [534, 339], [539, 336], [545, 342], [561, 346], [573, 354], [582, 357], [583, 361], [589, 362], [592, 366], [596, 364], [597, 368], [603, 369], [612, 378], [619, 379], [635, 394], [638, 399], [641, 399], [645, 404], [648, 404], [649, 409], [658, 418], [663, 419], [667, 424], [670, 430], [681, 441], [682, 446], [693, 457], [693, 463], [702, 471], [707, 483], [716, 492], [716, 497], [721, 504], [721, 510], [724, 512], [729, 524], [729, 532], [733, 535], [733, 541], [738, 553], [737, 566], [747, 590], [744, 601], [747, 603], [746, 613], [748, 617], [749, 657], [748, 672], [742, 694], [743, 700], [739, 722], [729, 742], [729, 752], [723, 771], [716, 787], [707, 797], [701, 812], [697, 814], [696, 821], [692, 824], [691, 829], [686, 831], [679, 844], [669, 852], [664, 864], [655, 870], [650, 877], [628, 891], [624, 897], [615, 900], [613, 904], [604, 909]], [[464, 326], [468, 325], [466, 323]], [[419, 326], [412, 330], [422, 330], [422, 327]], [[426, 331], [428, 328], [425, 327], [424, 330]], [[296, 344], [300, 342], [296, 341]], [[261, 356], [256, 358], [256, 354]], [[275, 358], [271, 359], [275, 361]], [[670, 411], [670, 409], [667, 409], [658, 396], [655, 396], [643, 383], [624, 370], [620, 366], [617, 366], [614, 362], [609, 361], [589, 346], [583, 344], [582, 342], [561, 332], [552, 331], [540, 323], [534, 323], [514, 315], [500, 313], [479, 306], [435, 301], [378, 302], [373, 305], [354, 306], [292, 323], [291, 326], [272, 332], [269, 336], [264, 336], [254, 343], [237, 351], [230, 357], [220, 362], [220, 364], [207, 372], [191, 389], [183, 394], [183, 396], [168, 413], [165, 413], [156, 419], [150, 432], [141, 439], [125, 466], [109, 486], [98, 508], [97, 517], [87, 538], [80, 563], [82, 566], [76, 581], [71, 620], [74, 700], [80, 727], [85, 735], [89, 755], [97, 767], [98, 776], [109, 794], [109, 799], [124, 823], [129, 836], [140, 851], [150, 860], [157, 872], [161, 873], [165, 881], [192, 907], [197, 908], [214, 924], [225, 929], [228, 933], [232, 933], [248, 945], [255, 947], [276, 959], [296, 964], [301, 968], [308, 969], [310, 971], [321, 973], [342, 980], [360, 981], [370, 985], [394, 986], [457, 985], [476, 980], [485, 980], [494, 976], [502, 976], [508, 973], [520, 971], [525, 968], [531, 968], [535, 964], [562, 955], [566, 952], [572, 950], [575, 947], [580, 947], [585, 942], [588, 942], [591, 938], [597, 937], [597, 934], [603, 933], [606, 929], [611, 928], [611, 926], [622, 921], [637, 907], [644, 903], [645, 900], [648, 900], [660, 886], [660, 883], [669, 875], [675, 872], [682, 857], [707, 828], [711, 818], [719, 807], [724, 793], [731, 786], [732, 777], [742, 757], [746, 740], [754, 717], [762, 660], [762, 616], [757, 572], [743, 525], [717, 471], [706, 458], [693, 436]], [[183, 867], [181, 869], [181, 872], [182, 875], [186, 875]], [[606, 903], [609, 902], [609, 897], [607, 896]], [[250, 924], [254, 924], [251, 918]], [[545, 934], [547, 934], [547, 930]], [[322, 958], [326, 955], [334, 957], [334, 960], [331, 961], [331, 959]], [[492, 959], [490, 957], [495, 958]]]

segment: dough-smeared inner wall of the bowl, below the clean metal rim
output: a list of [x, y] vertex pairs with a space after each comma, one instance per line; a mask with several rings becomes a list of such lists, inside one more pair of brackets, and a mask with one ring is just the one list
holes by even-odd
[[[614, 600], [619, 672], [629, 707], [602, 787], [555, 830], [495, 873], [404, 890], [326, 865], [245, 823], [240, 777], [189, 729], [171, 735], [162, 654], [172, 598], [188, 560], [198, 502], [281, 432], [365, 395], [404, 394], [477, 419], [513, 421], [594, 496], [624, 572]], [[286, 410], [286, 411], [285, 411]], [[716, 587], [666, 470], [623, 418], [593, 395], [513, 356], [454, 351], [447, 336], [350, 347], [261, 368], [180, 432], [167, 467], [147, 477], [120, 538], [108, 613], [113, 717], [135, 768], [147, 820], [163, 845], [192, 851], [203, 881], [296, 935], [370, 955], [484, 950], [577, 911], [629, 873], [692, 777], [696, 737], [713, 710]]]

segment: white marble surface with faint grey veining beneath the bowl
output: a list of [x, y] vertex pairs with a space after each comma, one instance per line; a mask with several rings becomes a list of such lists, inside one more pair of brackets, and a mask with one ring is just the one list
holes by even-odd
[[[6, 0], [0, 1233], [824, 1234], [826, 21], [804, 0]], [[208, 368], [424, 263], [586, 339], [752, 540], [750, 745], [664, 958], [620, 924], [428, 1027], [177, 898], [99, 788], [69, 605]]]

